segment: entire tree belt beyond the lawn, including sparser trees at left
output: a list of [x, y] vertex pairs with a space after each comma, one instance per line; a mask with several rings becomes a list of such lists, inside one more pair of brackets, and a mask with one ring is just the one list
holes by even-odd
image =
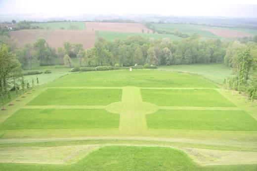
[[219, 39], [201, 40], [194, 34], [181, 41], [169, 38], [154, 40], [131, 36], [125, 40], [106, 41], [99, 38], [95, 46], [84, 49], [81, 43], [64, 42], [57, 49], [49, 46], [45, 39], [37, 39], [16, 49], [15, 54], [23, 69], [38, 66], [66, 65], [74, 67], [72, 58], [77, 58], [79, 67], [137, 65], [179, 65], [193, 63], [223, 62], [228, 42]]

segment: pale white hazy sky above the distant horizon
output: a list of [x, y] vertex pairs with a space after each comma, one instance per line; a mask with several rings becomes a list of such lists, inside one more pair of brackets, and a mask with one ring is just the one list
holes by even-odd
[[257, 0], [0, 0], [0, 14], [27, 13], [257, 17]]

